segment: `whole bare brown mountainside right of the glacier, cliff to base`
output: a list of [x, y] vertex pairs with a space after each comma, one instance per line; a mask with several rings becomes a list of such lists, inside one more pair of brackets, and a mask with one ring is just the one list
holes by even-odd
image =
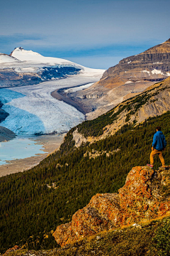
[[170, 39], [143, 53], [120, 60], [99, 82], [69, 96], [89, 107], [87, 119], [111, 110], [123, 100], [170, 76]]

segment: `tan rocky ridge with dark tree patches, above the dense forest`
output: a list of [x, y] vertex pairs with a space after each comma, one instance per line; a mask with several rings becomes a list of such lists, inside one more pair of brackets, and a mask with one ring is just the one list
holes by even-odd
[[97, 119], [86, 121], [74, 128], [76, 146], [94, 142], [118, 131], [125, 124], [137, 125], [149, 117], [156, 117], [170, 110], [170, 78], [151, 85], [140, 95], [132, 97]]

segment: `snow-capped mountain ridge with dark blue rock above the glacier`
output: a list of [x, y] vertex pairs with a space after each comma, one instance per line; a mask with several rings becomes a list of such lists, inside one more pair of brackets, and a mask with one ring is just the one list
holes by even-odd
[[0, 53], [0, 87], [36, 85], [78, 73], [97, 76], [104, 71], [86, 68], [62, 58], [45, 57], [22, 47], [15, 48], [10, 55]]

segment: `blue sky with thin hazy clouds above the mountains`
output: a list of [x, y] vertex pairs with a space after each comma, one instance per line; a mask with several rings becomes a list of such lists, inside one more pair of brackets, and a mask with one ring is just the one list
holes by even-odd
[[0, 52], [15, 47], [109, 68], [170, 38], [169, 0], [0, 0]]

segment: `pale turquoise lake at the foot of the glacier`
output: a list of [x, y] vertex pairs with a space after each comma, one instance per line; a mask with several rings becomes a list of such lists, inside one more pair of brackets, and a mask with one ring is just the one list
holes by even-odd
[[36, 144], [33, 137], [16, 137], [9, 142], [0, 142], [0, 165], [8, 161], [25, 159], [36, 154], [45, 153], [43, 146]]

